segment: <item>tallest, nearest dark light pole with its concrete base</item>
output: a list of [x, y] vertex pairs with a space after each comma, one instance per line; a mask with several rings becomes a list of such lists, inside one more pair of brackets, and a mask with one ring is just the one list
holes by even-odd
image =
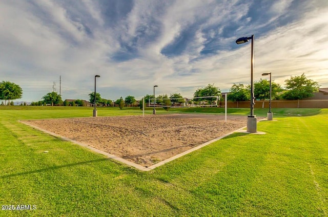
[[253, 69], [254, 69], [254, 35], [250, 37], [240, 37], [236, 40], [236, 43], [243, 44], [252, 40], [252, 50], [251, 50], [251, 114], [247, 118], [247, 132], [255, 133], [257, 132], [257, 118], [254, 115], [254, 84], [253, 84]]

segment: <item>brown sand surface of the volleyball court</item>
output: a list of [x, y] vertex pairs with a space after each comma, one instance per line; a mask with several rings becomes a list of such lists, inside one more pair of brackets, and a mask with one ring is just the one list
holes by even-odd
[[24, 121], [71, 140], [151, 166], [247, 125], [246, 116], [173, 114]]

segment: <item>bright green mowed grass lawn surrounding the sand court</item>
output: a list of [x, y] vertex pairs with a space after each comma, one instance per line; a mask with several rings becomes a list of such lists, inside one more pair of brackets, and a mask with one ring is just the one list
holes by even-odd
[[[327, 216], [328, 109], [274, 112], [277, 121], [258, 123], [264, 135], [234, 133], [140, 172], [17, 122], [91, 116], [92, 108], [0, 107], [0, 204], [36, 206], [0, 216]], [[142, 111], [98, 108], [99, 116], [130, 114]]]

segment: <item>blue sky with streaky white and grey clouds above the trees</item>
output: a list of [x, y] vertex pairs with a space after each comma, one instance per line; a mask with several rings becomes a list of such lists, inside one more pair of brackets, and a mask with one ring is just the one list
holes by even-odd
[[222, 92], [272, 72], [284, 85], [305, 73], [328, 87], [327, 0], [1, 0], [0, 81], [39, 101], [55, 89], [89, 100], [181, 93], [214, 84]]

